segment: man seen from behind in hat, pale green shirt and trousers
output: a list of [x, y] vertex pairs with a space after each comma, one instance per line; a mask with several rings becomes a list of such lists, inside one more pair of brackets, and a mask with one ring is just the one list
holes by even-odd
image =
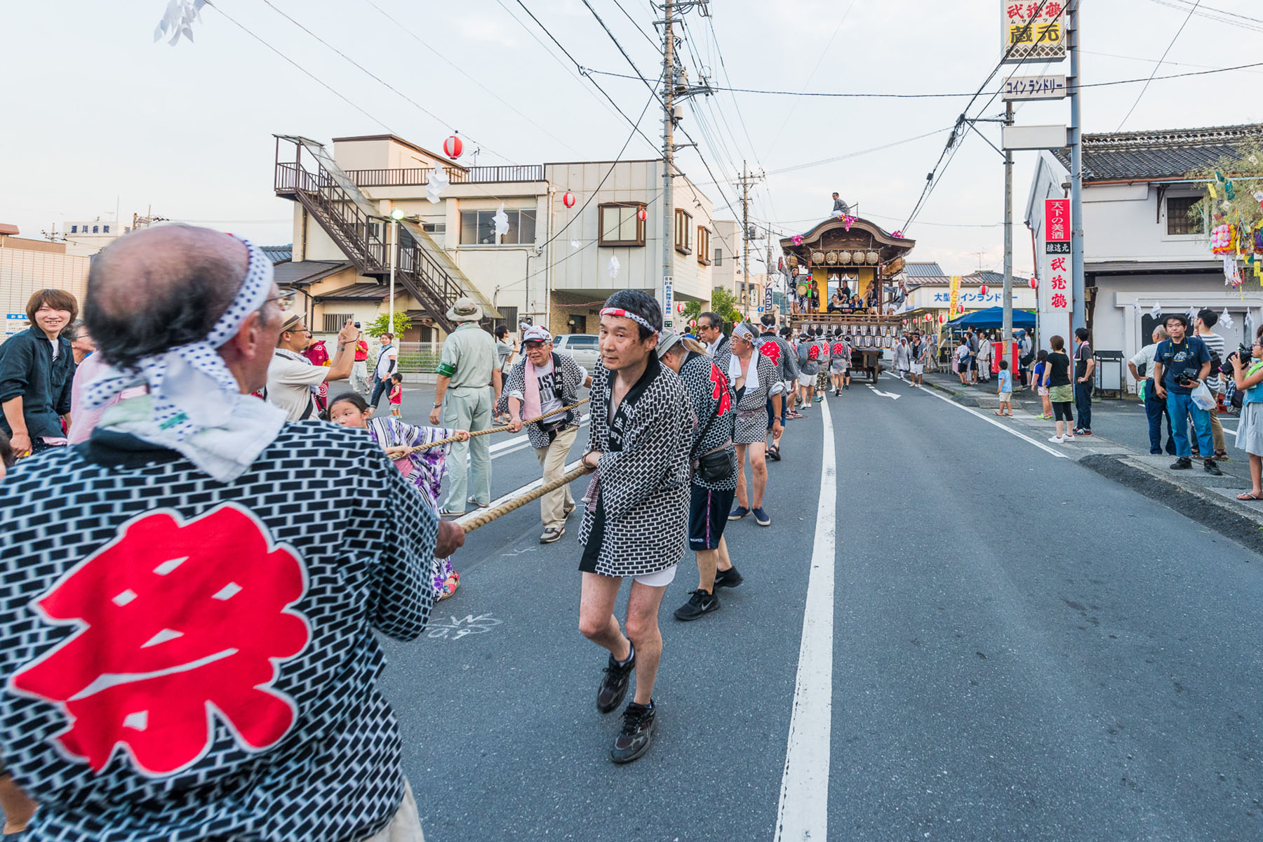
[[[442, 425], [448, 429], [490, 429], [491, 398], [495, 394], [491, 391], [493, 384], [495, 391], [500, 390], [495, 340], [479, 327], [482, 308], [472, 298], [457, 298], [447, 311], [447, 318], [460, 322], [460, 326], [443, 341], [429, 423], [436, 427], [440, 424], [442, 408]], [[470, 457], [469, 468], [465, 467], [466, 454]], [[491, 443], [488, 437], [477, 436], [467, 442], [453, 443], [447, 465], [450, 485], [440, 504], [440, 514], [462, 515], [466, 502], [486, 509], [491, 504]]]

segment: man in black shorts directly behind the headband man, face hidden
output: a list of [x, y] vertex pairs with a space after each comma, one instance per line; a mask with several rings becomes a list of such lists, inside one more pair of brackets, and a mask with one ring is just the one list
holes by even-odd
[[658, 341], [658, 359], [679, 375], [692, 401], [693, 425], [688, 456], [693, 471], [688, 502], [688, 548], [697, 554], [697, 590], [676, 608], [676, 620], [696, 620], [717, 611], [717, 587], [736, 587], [741, 574], [733, 567], [724, 542], [727, 509], [736, 494], [736, 453], [733, 432], [736, 403], [727, 377], [705, 348], [667, 331]]

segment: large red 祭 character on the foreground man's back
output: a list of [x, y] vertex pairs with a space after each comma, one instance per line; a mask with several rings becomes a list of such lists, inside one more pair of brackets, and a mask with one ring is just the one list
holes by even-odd
[[211, 745], [212, 713], [261, 751], [297, 717], [272, 684], [311, 640], [289, 608], [306, 591], [298, 554], [235, 504], [188, 523], [147, 513], [35, 601], [78, 631], [10, 683], [66, 713], [57, 742], [96, 771], [119, 746], [144, 775], [186, 769]]

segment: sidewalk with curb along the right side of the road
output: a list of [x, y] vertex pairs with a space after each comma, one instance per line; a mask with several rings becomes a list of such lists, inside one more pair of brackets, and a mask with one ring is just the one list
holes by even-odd
[[[947, 372], [925, 375], [925, 384], [946, 393], [965, 406], [994, 412], [999, 405], [995, 379], [989, 384], [962, 386], [960, 379]], [[1041, 401], [1032, 390], [1013, 395], [1013, 418], [1003, 419], [1022, 433], [1042, 442], [1053, 433], [1053, 422], [1039, 418]], [[1249, 549], [1263, 553], [1263, 502], [1240, 501], [1236, 495], [1250, 487], [1249, 460], [1236, 448], [1230, 430], [1236, 429], [1235, 415], [1220, 415], [1224, 423], [1229, 460], [1218, 462], [1224, 476], [1206, 473], [1199, 460], [1191, 471], [1172, 471], [1175, 458], [1148, 452], [1148, 425], [1139, 403], [1132, 398], [1096, 400], [1092, 403], [1092, 436], [1077, 436], [1062, 444], [1052, 444], [1084, 467], [1120, 482], [1181, 514], [1219, 531]], [[1106, 436], [1101, 434], [1101, 429]], [[1143, 448], [1143, 449], [1140, 449]]]

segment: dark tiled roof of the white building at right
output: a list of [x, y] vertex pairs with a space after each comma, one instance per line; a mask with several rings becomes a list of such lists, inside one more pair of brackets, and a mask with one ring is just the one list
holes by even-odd
[[[1239, 155], [1245, 141], [1263, 141], [1263, 124], [1084, 135], [1084, 181], [1181, 178]], [[1052, 154], [1070, 169], [1068, 148]]]

